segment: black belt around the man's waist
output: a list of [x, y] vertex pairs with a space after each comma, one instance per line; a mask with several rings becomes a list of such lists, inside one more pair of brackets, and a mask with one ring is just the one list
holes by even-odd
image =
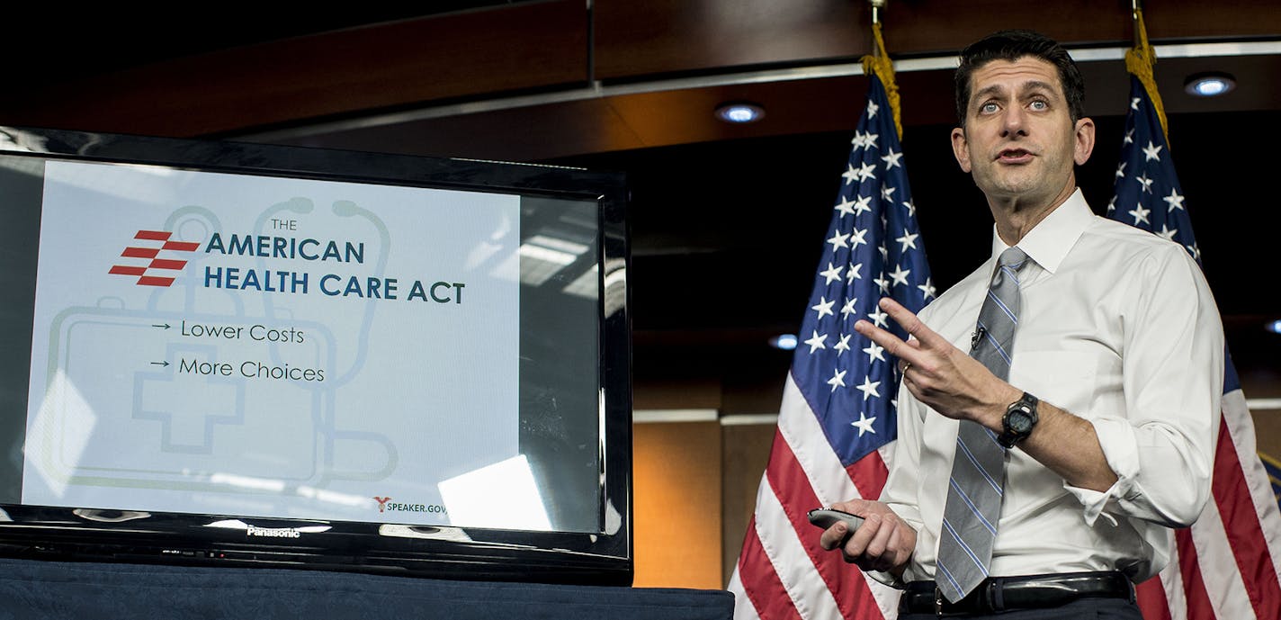
[[934, 582], [912, 582], [898, 602], [899, 614], [959, 616], [1009, 610], [1062, 607], [1081, 598], [1127, 598], [1134, 587], [1121, 573], [1061, 573], [989, 576], [965, 598], [949, 603]]

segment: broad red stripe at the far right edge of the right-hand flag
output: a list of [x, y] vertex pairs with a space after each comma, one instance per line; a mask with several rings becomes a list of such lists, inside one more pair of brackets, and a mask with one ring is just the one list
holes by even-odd
[[1227, 543], [1254, 607], [1254, 617], [1281, 619], [1281, 584], [1277, 583], [1276, 565], [1264, 543], [1263, 526], [1254, 510], [1226, 416], [1220, 421], [1212, 488], [1227, 532]]

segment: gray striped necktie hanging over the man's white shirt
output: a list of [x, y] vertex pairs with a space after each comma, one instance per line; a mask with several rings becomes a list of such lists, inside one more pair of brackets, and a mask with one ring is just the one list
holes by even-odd
[[[970, 351], [1000, 379], [1009, 377], [1018, 325], [1018, 270], [1026, 263], [1027, 255], [1017, 247], [1000, 254]], [[1004, 478], [1006, 450], [997, 443], [995, 434], [981, 424], [962, 420], [943, 509], [935, 575], [948, 601], [959, 601], [988, 576]]]

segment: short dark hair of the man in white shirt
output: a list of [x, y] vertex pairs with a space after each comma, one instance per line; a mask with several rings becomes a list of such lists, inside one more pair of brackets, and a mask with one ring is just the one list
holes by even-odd
[[1012, 29], [993, 32], [983, 37], [965, 50], [961, 50], [961, 67], [957, 67], [957, 122], [965, 127], [966, 110], [970, 108], [971, 76], [975, 69], [993, 61], [1015, 61], [1024, 56], [1032, 56], [1053, 64], [1058, 69], [1058, 81], [1063, 87], [1063, 96], [1067, 97], [1067, 111], [1075, 123], [1085, 115], [1085, 79], [1081, 78], [1080, 69], [1072, 61], [1072, 56], [1058, 41], [1039, 32]]

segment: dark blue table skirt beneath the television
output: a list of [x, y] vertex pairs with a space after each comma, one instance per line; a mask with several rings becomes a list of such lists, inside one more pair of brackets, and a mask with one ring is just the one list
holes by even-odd
[[724, 591], [0, 559], [0, 619], [728, 620]]

